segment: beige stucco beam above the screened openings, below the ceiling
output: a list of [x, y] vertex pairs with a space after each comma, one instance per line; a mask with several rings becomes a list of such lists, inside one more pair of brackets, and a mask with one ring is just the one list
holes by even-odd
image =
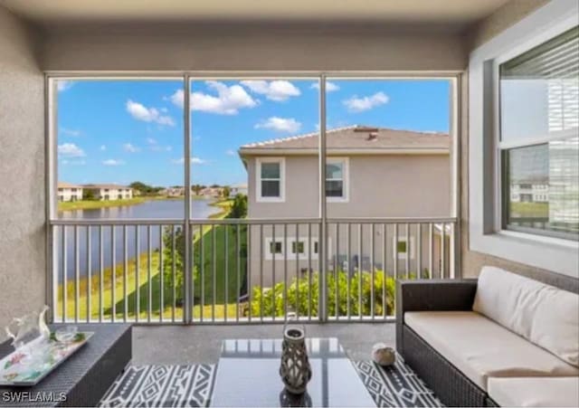
[[46, 33], [43, 46], [46, 70], [462, 70], [466, 63], [460, 34], [381, 27], [90, 26]]

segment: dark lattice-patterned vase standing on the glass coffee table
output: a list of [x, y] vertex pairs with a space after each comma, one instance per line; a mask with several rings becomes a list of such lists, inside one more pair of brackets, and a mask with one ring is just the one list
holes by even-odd
[[288, 325], [288, 323], [283, 327], [280, 376], [289, 393], [305, 393], [306, 386], [311, 379], [311, 366], [308, 360], [304, 327]]

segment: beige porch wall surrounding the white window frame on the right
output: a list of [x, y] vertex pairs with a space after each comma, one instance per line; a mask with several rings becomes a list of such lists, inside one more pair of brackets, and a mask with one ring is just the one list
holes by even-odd
[[[542, 5], [546, 5], [548, 0], [511, 0], [487, 19], [481, 21], [476, 29], [470, 33], [471, 50], [480, 44], [488, 42], [498, 33], [501, 33], [512, 24], [517, 23], [528, 14], [532, 13]], [[557, 286], [565, 288], [579, 289], [579, 283], [572, 278], [555, 274], [548, 270], [540, 270], [528, 265], [504, 260], [478, 251], [469, 249], [469, 107], [468, 107], [468, 78], [464, 75], [462, 82], [462, 138], [461, 138], [461, 260], [462, 275], [467, 278], [479, 276], [480, 268], [484, 265], [497, 266], [505, 270], [511, 270], [522, 275], [527, 275], [537, 280], [546, 280]], [[555, 261], [555, 260], [554, 260]]]

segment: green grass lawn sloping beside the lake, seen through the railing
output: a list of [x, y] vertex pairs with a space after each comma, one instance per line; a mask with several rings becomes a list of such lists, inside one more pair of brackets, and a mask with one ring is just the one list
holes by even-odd
[[[220, 206], [225, 208], [220, 216], [223, 217], [228, 213], [229, 205], [223, 202]], [[239, 227], [239, 246], [246, 243], [246, 227]], [[225, 233], [227, 233], [227, 251], [225, 248]], [[194, 261], [197, 265], [201, 265], [201, 240], [203, 240], [204, 250], [204, 273], [203, 273], [203, 289], [199, 282], [202, 281], [201, 270], [195, 281], [194, 297], [195, 308], [194, 317], [199, 318], [202, 315], [204, 318], [210, 318], [214, 312], [215, 318], [223, 318], [225, 312], [228, 317], [234, 317], [236, 314], [235, 299], [238, 288], [242, 285], [242, 277], [245, 271], [244, 262], [246, 258], [240, 256], [240, 275], [237, 279], [237, 231], [235, 226], [216, 225], [212, 227], [204, 227], [204, 236], [200, 237], [198, 233], [195, 234], [194, 243]], [[215, 257], [212, 256], [213, 245], [215, 245]], [[224, 256], [225, 255], [225, 256]], [[113, 270], [107, 268], [103, 270], [102, 281], [102, 308], [103, 318], [110, 320], [113, 312], [112, 305], [115, 305], [115, 314], [117, 318], [122, 318], [125, 311], [125, 302], [127, 303], [127, 313], [129, 318], [134, 318], [137, 312], [139, 319], [147, 320], [149, 315], [151, 319], [158, 320], [161, 310], [165, 319], [170, 319], [173, 316], [173, 286], [172, 281], [164, 282], [161, 285], [162, 274], [160, 271], [160, 253], [153, 251], [150, 257], [150, 272], [147, 253], [139, 256], [138, 274], [137, 262], [135, 259], [128, 261], [127, 268], [127, 284], [125, 287], [124, 265], [119, 263], [115, 268], [115, 285], [114, 285], [114, 299], [113, 299]], [[215, 271], [215, 274], [214, 274]], [[148, 280], [150, 273], [150, 281]], [[138, 282], [137, 282], [138, 275]], [[88, 312], [88, 288], [90, 283], [90, 316], [91, 318], [99, 318], [100, 310], [100, 276], [93, 275], [88, 279], [79, 281], [79, 302], [78, 302], [78, 318], [85, 320]], [[214, 284], [215, 283], [215, 284]], [[67, 308], [66, 317], [75, 318], [77, 305], [75, 299], [75, 282], [69, 280], [66, 285], [67, 288]], [[127, 297], [125, 298], [125, 290]], [[204, 299], [204, 307], [201, 307], [202, 292]], [[150, 298], [149, 298], [150, 293]], [[161, 307], [161, 294], [163, 295], [163, 307]], [[57, 312], [62, 313], [62, 285], [59, 288]], [[151, 299], [149, 305], [149, 299]], [[216, 300], [215, 308], [211, 306], [213, 300]], [[138, 300], [138, 302], [137, 302]], [[230, 304], [224, 305], [225, 302]], [[176, 318], [182, 318], [183, 309], [177, 305]]]

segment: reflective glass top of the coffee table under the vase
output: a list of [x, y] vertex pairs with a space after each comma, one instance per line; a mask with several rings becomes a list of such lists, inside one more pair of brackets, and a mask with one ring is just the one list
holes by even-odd
[[281, 339], [224, 340], [211, 405], [375, 406], [337, 338], [308, 338], [306, 346], [312, 377], [299, 397], [281, 383]]

